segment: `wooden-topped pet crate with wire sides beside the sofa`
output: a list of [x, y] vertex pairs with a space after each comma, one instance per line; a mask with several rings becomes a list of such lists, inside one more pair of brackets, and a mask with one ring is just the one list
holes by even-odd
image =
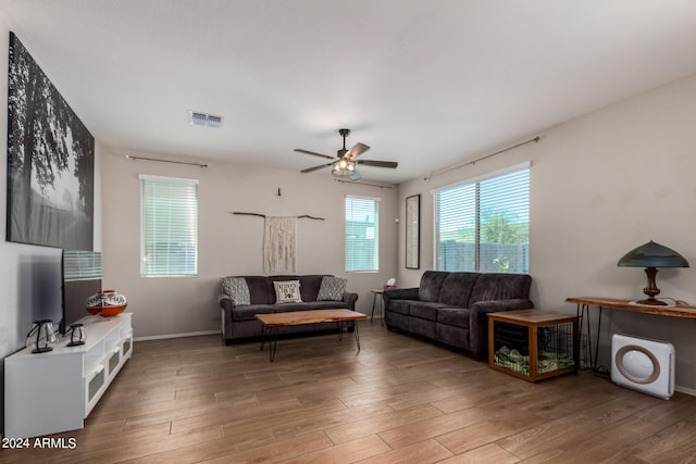
[[577, 372], [577, 317], [540, 310], [488, 314], [488, 364], [529, 381]]

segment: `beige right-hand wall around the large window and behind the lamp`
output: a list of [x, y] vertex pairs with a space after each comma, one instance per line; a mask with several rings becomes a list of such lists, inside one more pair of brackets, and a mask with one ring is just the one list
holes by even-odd
[[[574, 313], [575, 305], [564, 303], [568, 297], [643, 297], [644, 271], [617, 262], [648, 240], [673, 248], [692, 264], [659, 269], [660, 297], [696, 305], [694, 121], [696, 76], [544, 130], [536, 145], [400, 185], [400, 215], [406, 197], [423, 195], [422, 268], [433, 268], [431, 190], [531, 160], [530, 274], [537, 308]], [[417, 286], [422, 271], [403, 268], [401, 248], [399, 280]], [[619, 311], [605, 316], [604, 365], [609, 365], [610, 333], [671, 341], [676, 384], [696, 391], [696, 322]]]

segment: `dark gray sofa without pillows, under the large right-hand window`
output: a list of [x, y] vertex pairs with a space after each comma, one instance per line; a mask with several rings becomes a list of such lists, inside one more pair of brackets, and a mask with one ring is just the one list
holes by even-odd
[[488, 313], [534, 308], [532, 277], [426, 271], [418, 288], [386, 290], [385, 323], [399, 329], [469, 351], [474, 360], [488, 354]]

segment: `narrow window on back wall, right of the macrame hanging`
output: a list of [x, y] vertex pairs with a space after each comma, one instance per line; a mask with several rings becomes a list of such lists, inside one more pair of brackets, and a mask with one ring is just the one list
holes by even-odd
[[346, 197], [346, 271], [377, 271], [378, 205], [376, 198]]

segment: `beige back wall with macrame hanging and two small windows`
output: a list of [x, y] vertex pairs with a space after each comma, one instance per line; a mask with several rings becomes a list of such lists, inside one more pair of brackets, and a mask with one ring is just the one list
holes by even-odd
[[[201, 128], [201, 130], [209, 130]], [[103, 156], [104, 286], [123, 292], [133, 312], [135, 337], [220, 330], [219, 280], [229, 275], [262, 275], [263, 218], [309, 214], [298, 220], [297, 274], [334, 274], [357, 291], [357, 310], [372, 310], [370, 289], [396, 274], [396, 188], [339, 184], [328, 171], [312, 174], [212, 161], [207, 168], [133, 161], [133, 156], [190, 161], [158, 153], [105, 150]], [[196, 160], [200, 162], [201, 160]], [[139, 174], [196, 178], [199, 184], [199, 274], [196, 277], [142, 278]], [[277, 190], [281, 189], [281, 197]], [[380, 272], [344, 272], [344, 199], [347, 193], [378, 197]], [[290, 273], [277, 273], [290, 274]]]

